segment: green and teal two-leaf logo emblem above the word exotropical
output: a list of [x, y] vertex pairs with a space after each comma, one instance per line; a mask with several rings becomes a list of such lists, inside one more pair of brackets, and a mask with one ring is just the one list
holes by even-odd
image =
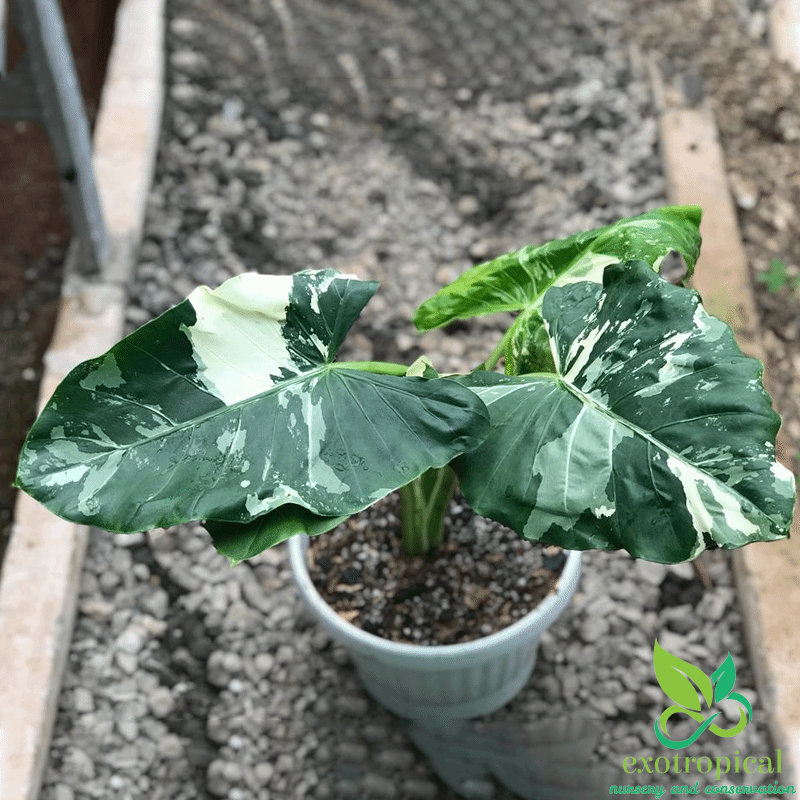
[[[736, 667], [730, 653], [709, 677], [694, 664], [667, 652], [656, 639], [653, 647], [653, 667], [664, 694], [674, 702], [674, 705], [667, 708], [655, 723], [656, 738], [664, 747], [681, 750], [697, 741], [706, 730], [724, 738], [736, 736], [753, 718], [750, 702], [743, 695], [733, 691], [733, 685], [736, 683]], [[705, 700], [705, 709], [702, 700]], [[739, 704], [739, 721], [732, 728], [721, 728], [715, 722], [721, 712], [713, 711], [712, 706], [723, 702]], [[680, 741], [670, 739], [667, 722], [674, 714], [686, 714], [697, 722], [699, 727], [686, 739]]]

